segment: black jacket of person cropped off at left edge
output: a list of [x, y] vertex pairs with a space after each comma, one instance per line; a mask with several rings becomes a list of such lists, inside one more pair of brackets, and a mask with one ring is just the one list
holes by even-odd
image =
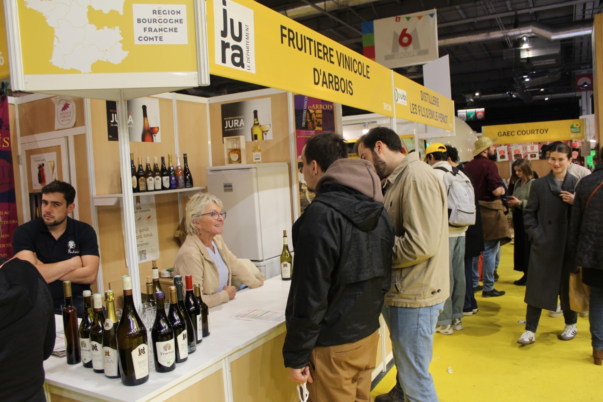
[[0, 401], [46, 401], [42, 362], [55, 336], [48, 284], [31, 263], [8, 261], [0, 268]]

